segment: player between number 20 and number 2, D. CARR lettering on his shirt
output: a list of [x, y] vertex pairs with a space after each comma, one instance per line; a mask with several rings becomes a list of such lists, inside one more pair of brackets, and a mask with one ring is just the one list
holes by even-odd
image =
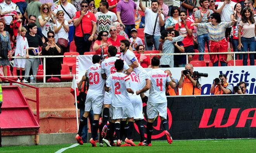
[[[109, 46], [108, 53], [107, 53], [109, 58], [107, 58], [101, 63], [101, 75], [103, 79], [107, 79], [110, 74], [113, 74], [116, 72], [115, 62], [117, 59], [120, 59], [119, 57], [116, 57], [117, 51], [118, 50], [115, 46], [113, 45]], [[130, 74], [132, 71], [128, 66], [128, 64], [126, 64], [126, 62], [124, 62], [124, 69], [126, 70], [126, 74]], [[104, 127], [103, 129], [102, 127], [100, 127], [100, 132], [102, 131], [102, 137], [104, 138], [108, 130], [106, 139], [103, 139], [103, 141], [107, 144], [107, 146], [111, 146], [114, 144], [112, 139], [112, 136], [114, 135], [114, 121], [109, 123], [109, 127], [107, 127], [107, 121], [109, 119], [109, 116], [112, 117], [111, 99], [112, 99], [112, 91], [105, 92], [102, 124], [101, 124]], [[107, 141], [108, 139], [111, 141], [111, 143]]]

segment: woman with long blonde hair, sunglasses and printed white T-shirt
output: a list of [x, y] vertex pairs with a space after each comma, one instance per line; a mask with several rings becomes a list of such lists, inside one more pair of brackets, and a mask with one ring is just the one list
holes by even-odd
[[54, 31], [53, 24], [56, 24], [56, 20], [54, 15], [52, 14], [52, 10], [50, 9], [48, 3], [43, 3], [40, 8], [40, 16], [38, 17], [39, 24], [42, 28], [43, 37], [45, 38], [45, 42], [47, 39], [47, 32]]

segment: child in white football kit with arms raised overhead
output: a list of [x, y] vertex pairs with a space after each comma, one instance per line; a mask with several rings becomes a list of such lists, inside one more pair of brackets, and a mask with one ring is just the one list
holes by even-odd
[[[22, 21], [21, 19], [18, 19], [17, 22]], [[25, 57], [28, 58], [28, 40], [25, 37], [26, 35], [26, 28], [22, 27], [22, 24], [19, 24], [19, 29], [18, 29], [18, 33], [17, 33], [17, 45], [16, 45], [16, 50], [15, 50], [15, 56], [21, 56], [21, 57]], [[14, 59], [14, 67], [17, 67], [17, 76], [18, 77], [18, 82], [22, 82], [24, 83], [24, 75], [25, 75], [25, 63], [26, 63], [26, 59], [18, 59], [15, 58]], [[20, 79], [20, 69], [21, 69], [21, 75], [22, 75], [22, 79]]]

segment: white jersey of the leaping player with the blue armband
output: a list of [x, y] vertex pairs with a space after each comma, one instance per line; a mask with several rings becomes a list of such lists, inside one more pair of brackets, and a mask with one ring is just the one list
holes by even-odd
[[140, 74], [141, 71], [145, 71], [143, 67], [140, 66], [140, 62], [138, 61], [137, 57], [131, 50], [128, 49], [125, 55], [121, 53], [120, 57], [124, 59], [128, 65], [131, 65], [134, 61], [137, 61], [139, 66], [133, 69], [137, 74]]

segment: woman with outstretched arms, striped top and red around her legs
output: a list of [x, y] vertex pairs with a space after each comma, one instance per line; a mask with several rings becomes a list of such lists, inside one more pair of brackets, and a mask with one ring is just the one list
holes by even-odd
[[[208, 31], [210, 37], [210, 50], [211, 52], [227, 52], [228, 42], [225, 38], [225, 31], [227, 27], [234, 25], [234, 21], [221, 22], [219, 13], [211, 14], [211, 22], [200, 24], [191, 24], [191, 26], [196, 26]], [[227, 54], [212, 54], [211, 62], [213, 66], [218, 66], [220, 61], [221, 66], [227, 66]]]

